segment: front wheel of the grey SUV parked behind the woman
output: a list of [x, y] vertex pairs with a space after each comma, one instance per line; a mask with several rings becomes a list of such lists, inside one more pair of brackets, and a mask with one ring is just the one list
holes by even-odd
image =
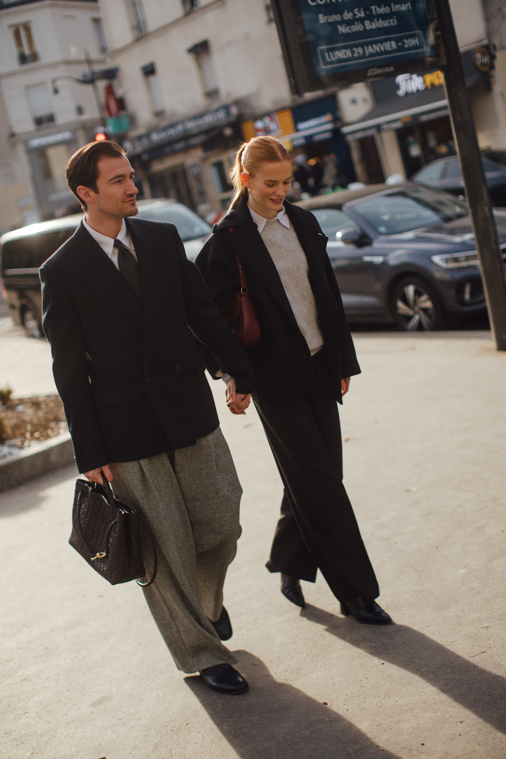
[[390, 309], [403, 332], [432, 332], [447, 326], [445, 310], [435, 291], [424, 279], [414, 275], [394, 285]]

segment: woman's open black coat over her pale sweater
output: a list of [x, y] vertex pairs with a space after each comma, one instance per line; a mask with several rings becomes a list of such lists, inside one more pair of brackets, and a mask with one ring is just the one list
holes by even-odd
[[[360, 367], [344, 316], [341, 293], [328, 260], [328, 238], [312, 213], [287, 200], [284, 208], [306, 254], [332, 377], [332, 392], [341, 403], [341, 379], [359, 374]], [[234, 228], [233, 231], [229, 231], [230, 227]], [[233, 294], [240, 289], [236, 254], [243, 263], [248, 291], [262, 331], [259, 345], [247, 351], [255, 370], [255, 389], [279, 393], [313, 392], [310, 350], [297, 325], [278, 270], [253, 222], [246, 197], [214, 226], [195, 261], [209, 286], [211, 297], [224, 316]], [[206, 364], [210, 365], [207, 357]]]

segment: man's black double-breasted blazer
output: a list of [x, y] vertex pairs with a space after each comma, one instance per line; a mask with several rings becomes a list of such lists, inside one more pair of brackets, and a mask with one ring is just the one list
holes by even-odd
[[250, 359], [174, 225], [126, 223], [142, 303], [82, 223], [39, 269], [42, 325], [80, 472], [182, 448], [218, 427], [199, 340], [238, 392], [253, 389]]

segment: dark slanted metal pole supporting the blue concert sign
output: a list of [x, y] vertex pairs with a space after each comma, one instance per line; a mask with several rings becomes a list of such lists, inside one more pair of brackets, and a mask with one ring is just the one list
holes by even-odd
[[481, 266], [490, 326], [498, 351], [506, 351], [506, 278], [464, 68], [448, 0], [434, 0], [445, 47], [445, 90], [451, 128]]

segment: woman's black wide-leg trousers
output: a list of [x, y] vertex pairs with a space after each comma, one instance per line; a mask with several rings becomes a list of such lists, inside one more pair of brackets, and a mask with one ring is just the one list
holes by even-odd
[[379, 596], [343, 485], [341, 426], [325, 348], [312, 358], [315, 392], [253, 392], [284, 483], [267, 568], [314, 582], [319, 569], [340, 601]]

